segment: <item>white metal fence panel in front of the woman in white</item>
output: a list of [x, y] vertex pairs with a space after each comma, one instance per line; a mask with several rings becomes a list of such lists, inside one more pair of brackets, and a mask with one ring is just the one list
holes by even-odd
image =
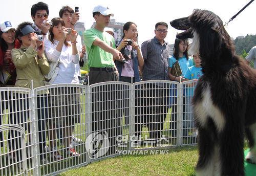
[[39, 174], [88, 164], [88, 87], [56, 84], [34, 90]]

